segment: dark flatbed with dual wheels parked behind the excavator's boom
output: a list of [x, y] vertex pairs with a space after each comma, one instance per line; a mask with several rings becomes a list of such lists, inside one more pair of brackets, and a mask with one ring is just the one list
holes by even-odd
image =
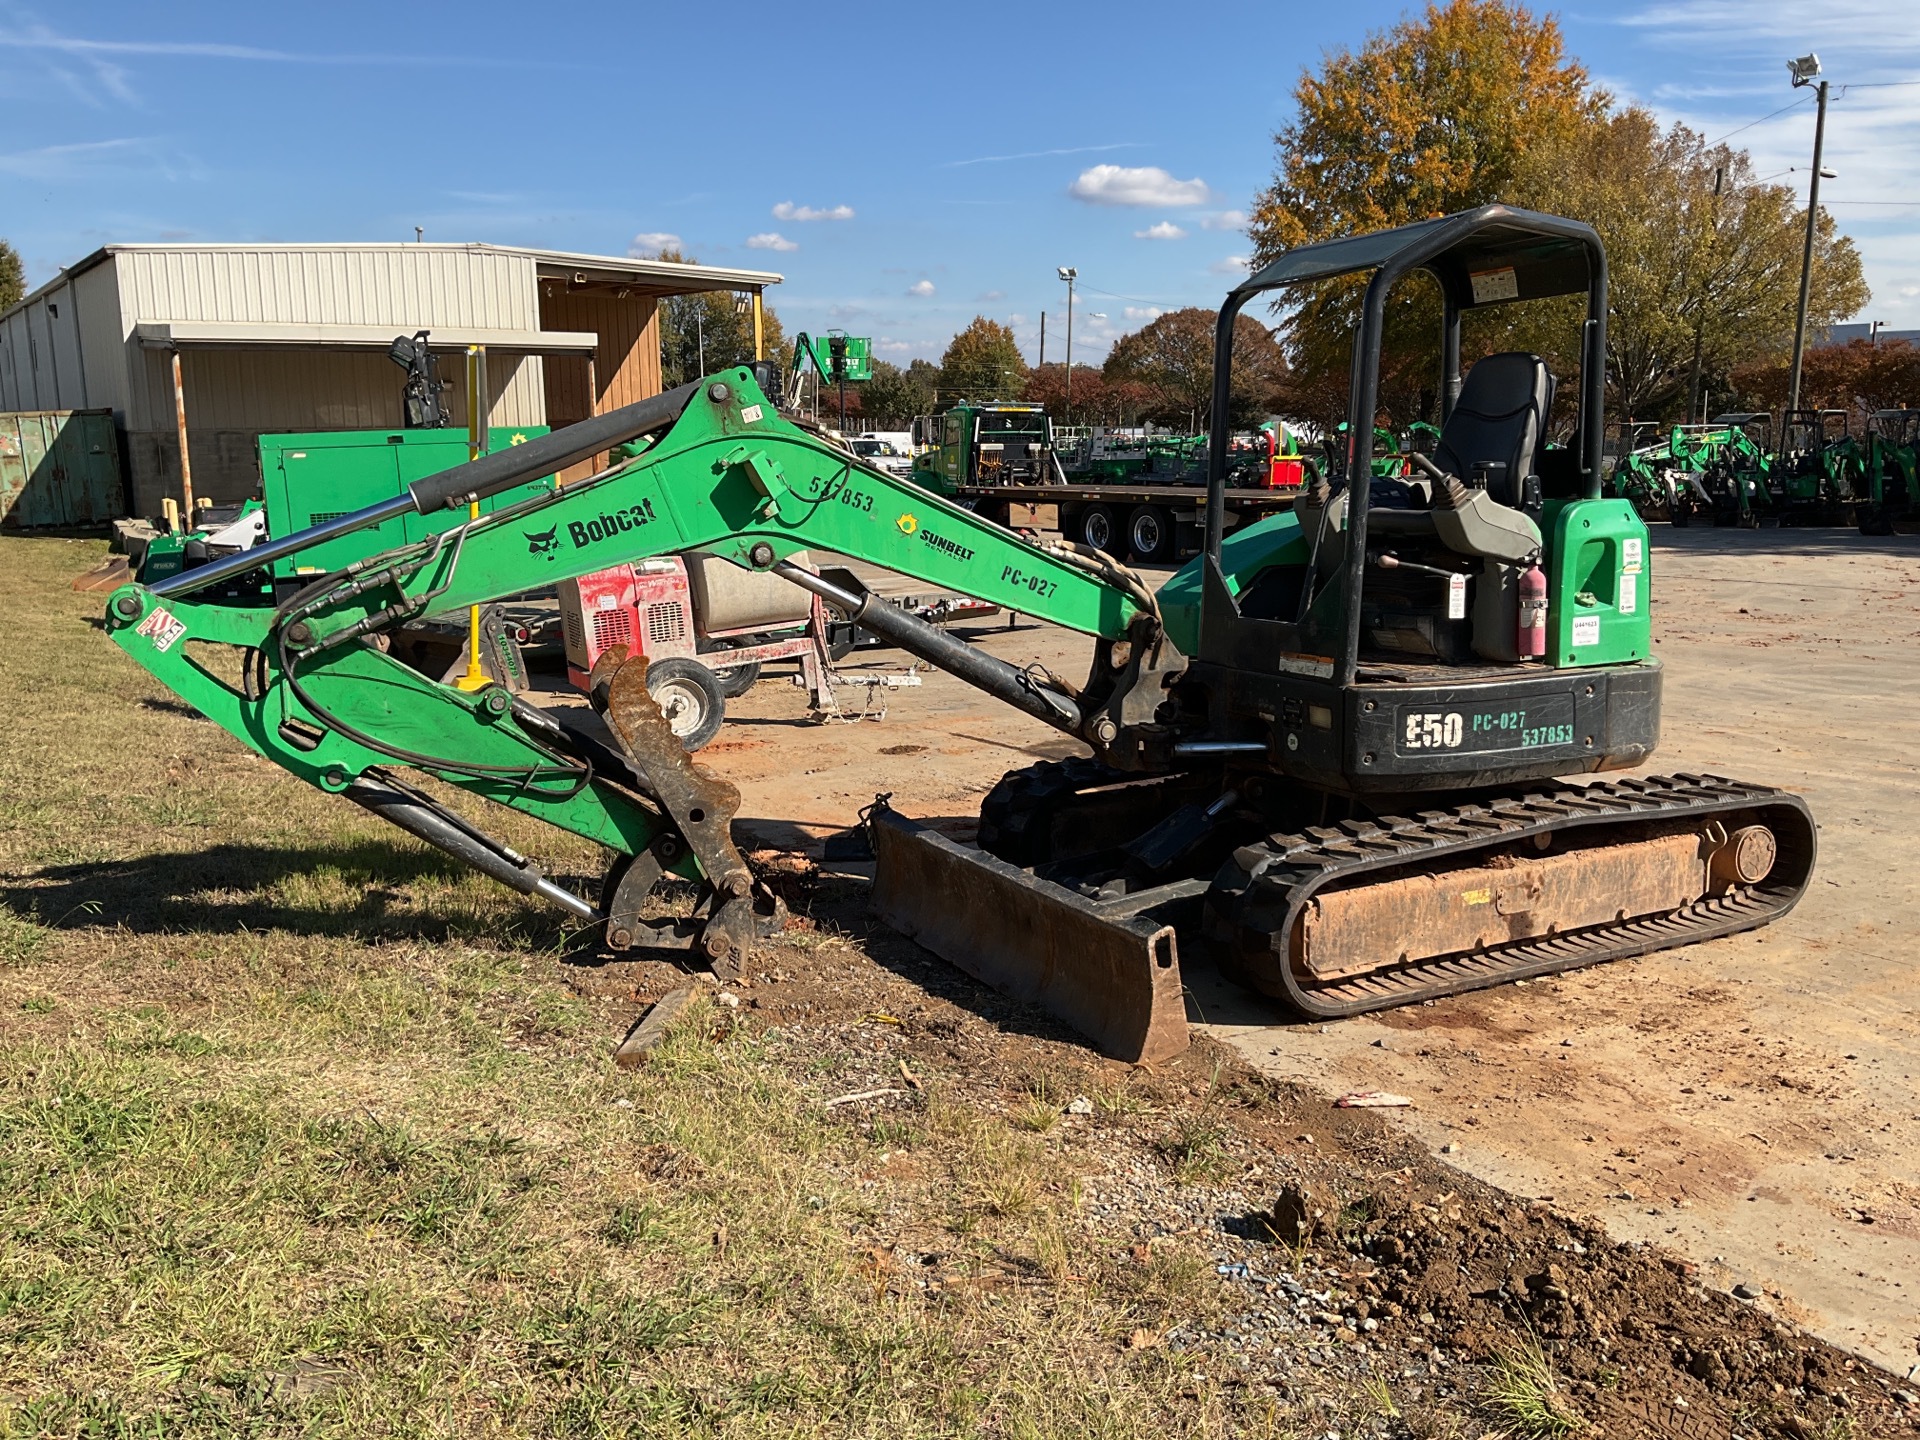
[[[1290, 511], [1300, 488], [1227, 486], [1225, 528]], [[1173, 561], [1206, 541], [1206, 486], [1052, 482], [956, 486], [970, 511], [1016, 530], [1058, 530], [1117, 559]]]

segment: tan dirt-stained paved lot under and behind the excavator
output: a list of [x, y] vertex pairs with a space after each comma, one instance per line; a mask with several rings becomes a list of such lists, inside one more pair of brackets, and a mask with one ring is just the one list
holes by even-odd
[[[1334, 1025], [1288, 1023], [1188, 966], [1192, 1018], [1260, 1069], [1415, 1098], [1396, 1121], [1521, 1196], [1657, 1240], [1716, 1286], [1895, 1375], [1920, 1359], [1920, 540], [1655, 530], [1665, 728], [1653, 770], [1803, 793], [1820, 864], [1757, 935]], [[883, 584], [893, 591], [904, 582]], [[975, 632], [1077, 674], [1085, 643]], [[881, 651], [862, 668], [899, 668]], [[797, 845], [876, 791], [970, 816], [1002, 770], [1075, 747], [943, 674], [881, 720], [804, 724], [762, 680], [705, 758], [749, 831]], [[858, 708], [858, 691], [843, 705]]]

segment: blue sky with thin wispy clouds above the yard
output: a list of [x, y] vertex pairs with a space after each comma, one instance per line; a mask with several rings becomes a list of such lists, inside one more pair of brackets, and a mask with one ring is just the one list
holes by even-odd
[[[789, 328], [897, 361], [975, 313], [1033, 359], [1043, 309], [1060, 359], [1054, 269], [1075, 265], [1075, 359], [1098, 359], [1162, 309], [1219, 303], [1300, 69], [1402, 13], [0, 0], [0, 234], [29, 284], [129, 240], [678, 238], [783, 273]], [[1860, 319], [1920, 328], [1910, 0], [1557, 13], [1615, 94], [1713, 138], [1745, 127], [1759, 173], [1801, 184], [1812, 106], [1784, 61], [1818, 50], [1853, 86], [1822, 198], [1866, 255]]]

